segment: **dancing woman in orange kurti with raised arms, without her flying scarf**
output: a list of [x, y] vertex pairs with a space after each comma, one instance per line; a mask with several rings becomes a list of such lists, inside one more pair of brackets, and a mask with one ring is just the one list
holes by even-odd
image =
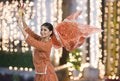
[[54, 68], [50, 62], [53, 26], [47, 22], [42, 24], [40, 32], [41, 36], [39, 36], [30, 30], [23, 19], [23, 15], [20, 16], [18, 21], [19, 28], [22, 31], [26, 42], [34, 47], [33, 63], [36, 72], [35, 81], [58, 81]]

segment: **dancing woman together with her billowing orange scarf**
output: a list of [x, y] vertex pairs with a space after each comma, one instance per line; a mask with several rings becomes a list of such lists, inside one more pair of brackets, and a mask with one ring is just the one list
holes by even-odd
[[52, 45], [56, 48], [65, 47], [68, 51], [80, 47], [84, 40], [93, 32], [101, 31], [100, 28], [94, 28], [89, 25], [83, 25], [76, 22], [80, 15], [78, 11], [59, 23], [54, 29], [50, 23], [44, 23], [41, 26], [41, 36], [32, 32], [23, 19], [23, 8], [20, 8], [19, 26], [26, 42], [35, 47], [33, 63], [36, 70], [35, 81], [58, 81], [52, 64], [50, 63], [50, 51]]

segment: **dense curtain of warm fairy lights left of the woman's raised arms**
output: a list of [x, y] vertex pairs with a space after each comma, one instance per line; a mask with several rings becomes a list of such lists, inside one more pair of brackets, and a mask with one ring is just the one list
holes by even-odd
[[[22, 1], [22, 0], [21, 0]], [[12, 42], [14, 43], [15, 40], [23, 40], [24, 37], [20, 35], [19, 29], [17, 28], [17, 19], [16, 16], [18, 15], [18, 1], [12, 1], [10, 4], [8, 1], [3, 4], [1, 2], [1, 9], [2, 16], [0, 17], [2, 20], [1, 23], [1, 30], [2, 30], [2, 50], [3, 51], [15, 51], [17, 52], [17, 49], [12, 46]], [[30, 14], [30, 7], [28, 8], [28, 15]], [[27, 17], [28, 17], [27, 15]], [[8, 44], [9, 43], [9, 44]], [[15, 46], [17, 46], [17, 43], [15, 43]]]

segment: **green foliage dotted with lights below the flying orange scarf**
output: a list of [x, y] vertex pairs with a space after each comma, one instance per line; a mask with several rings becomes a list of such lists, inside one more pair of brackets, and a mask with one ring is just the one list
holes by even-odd
[[80, 55], [80, 49], [75, 49], [70, 52], [68, 62], [73, 64], [73, 67], [76, 70], [80, 69], [81, 66], [81, 55]]

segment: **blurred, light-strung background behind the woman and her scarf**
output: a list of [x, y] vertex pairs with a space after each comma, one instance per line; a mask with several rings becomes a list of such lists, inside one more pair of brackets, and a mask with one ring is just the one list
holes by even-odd
[[120, 81], [120, 0], [0, 0], [0, 81], [34, 81], [33, 48], [16, 19], [20, 2], [25, 3], [26, 23], [36, 34], [42, 23], [55, 27], [78, 10], [78, 22], [104, 30], [71, 52], [52, 48], [59, 81]]

